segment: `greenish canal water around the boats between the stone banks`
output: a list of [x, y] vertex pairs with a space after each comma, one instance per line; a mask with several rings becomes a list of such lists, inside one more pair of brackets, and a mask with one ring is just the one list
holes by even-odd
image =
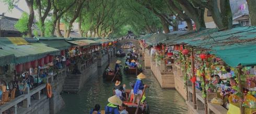
[[[125, 51], [129, 52], [129, 50]], [[125, 58], [112, 58], [110, 61], [111, 68], [114, 69], [114, 63], [117, 60], [121, 60], [122, 64], [125, 62]], [[100, 104], [101, 110], [104, 109], [104, 106], [108, 104], [108, 97], [113, 95], [114, 82], [103, 80], [103, 70], [104, 67], [99, 68], [98, 74], [95, 74], [85, 83], [79, 94], [62, 94], [65, 106], [60, 114], [89, 113], [95, 104]], [[150, 113], [188, 113], [184, 99], [176, 90], [161, 89], [150, 69], [145, 69], [143, 73], [147, 76], [143, 82], [150, 86], [146, 91]], [[126, 84], [127, 89], [131, 89], [129, 82], [135, 80], [136, 77], [133, 75], [123, 75], [121, 83]]]

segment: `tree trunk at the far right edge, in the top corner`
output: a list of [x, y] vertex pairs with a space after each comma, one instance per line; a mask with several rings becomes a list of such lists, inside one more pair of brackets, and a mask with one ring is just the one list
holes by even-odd
[[255, 0], [247, 0], [248, 8], [249, 8], [249, 17], [252, 26], [256, 26], [256, 1]]

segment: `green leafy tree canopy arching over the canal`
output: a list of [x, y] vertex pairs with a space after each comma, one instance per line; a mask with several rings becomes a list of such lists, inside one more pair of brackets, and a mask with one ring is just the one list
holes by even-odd
[[[13, 9], [19, 0], [2, 0]], [[178, 31], [178, 22], [185, 21], [204, 29], [204, 12], [208, 9], [219, 29], [231, 29], [232, 14], [229, 0], [25, 0], [29, 13], [15, 25], [20, 32], [32, 36], [32, 24], [41, 36], [69, 37], [72, 29], [80, 37], [120, 37], [133, 31], [136, 35], [169, 33], [169, 26]], [[250, 6], [251, 10], [255, 8]], [[36, 13], [36, 15], [34, 15]], [[255, 15], [251, 15], [254, 23]], [[36, 19], [36, 21], [34, 21]], [[60, 23], [65, 24], [61, 33]], [[74, 28], [78, 23], [78, 28]], [[55, 33], [55, 34], [54, 34]], [[36, 34], [34, 34], [36, 35]]]

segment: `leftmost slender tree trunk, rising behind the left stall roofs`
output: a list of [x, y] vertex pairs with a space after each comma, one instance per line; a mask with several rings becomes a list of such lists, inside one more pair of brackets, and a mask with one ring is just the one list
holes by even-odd
[[29, 20], [28, 20], [28, 33], [27, 37], [32, 37], [32, 24], [34, 20], [34, 9], [33, 9], [33, 0], [26, 0], [26, 3], [29, 8]]

